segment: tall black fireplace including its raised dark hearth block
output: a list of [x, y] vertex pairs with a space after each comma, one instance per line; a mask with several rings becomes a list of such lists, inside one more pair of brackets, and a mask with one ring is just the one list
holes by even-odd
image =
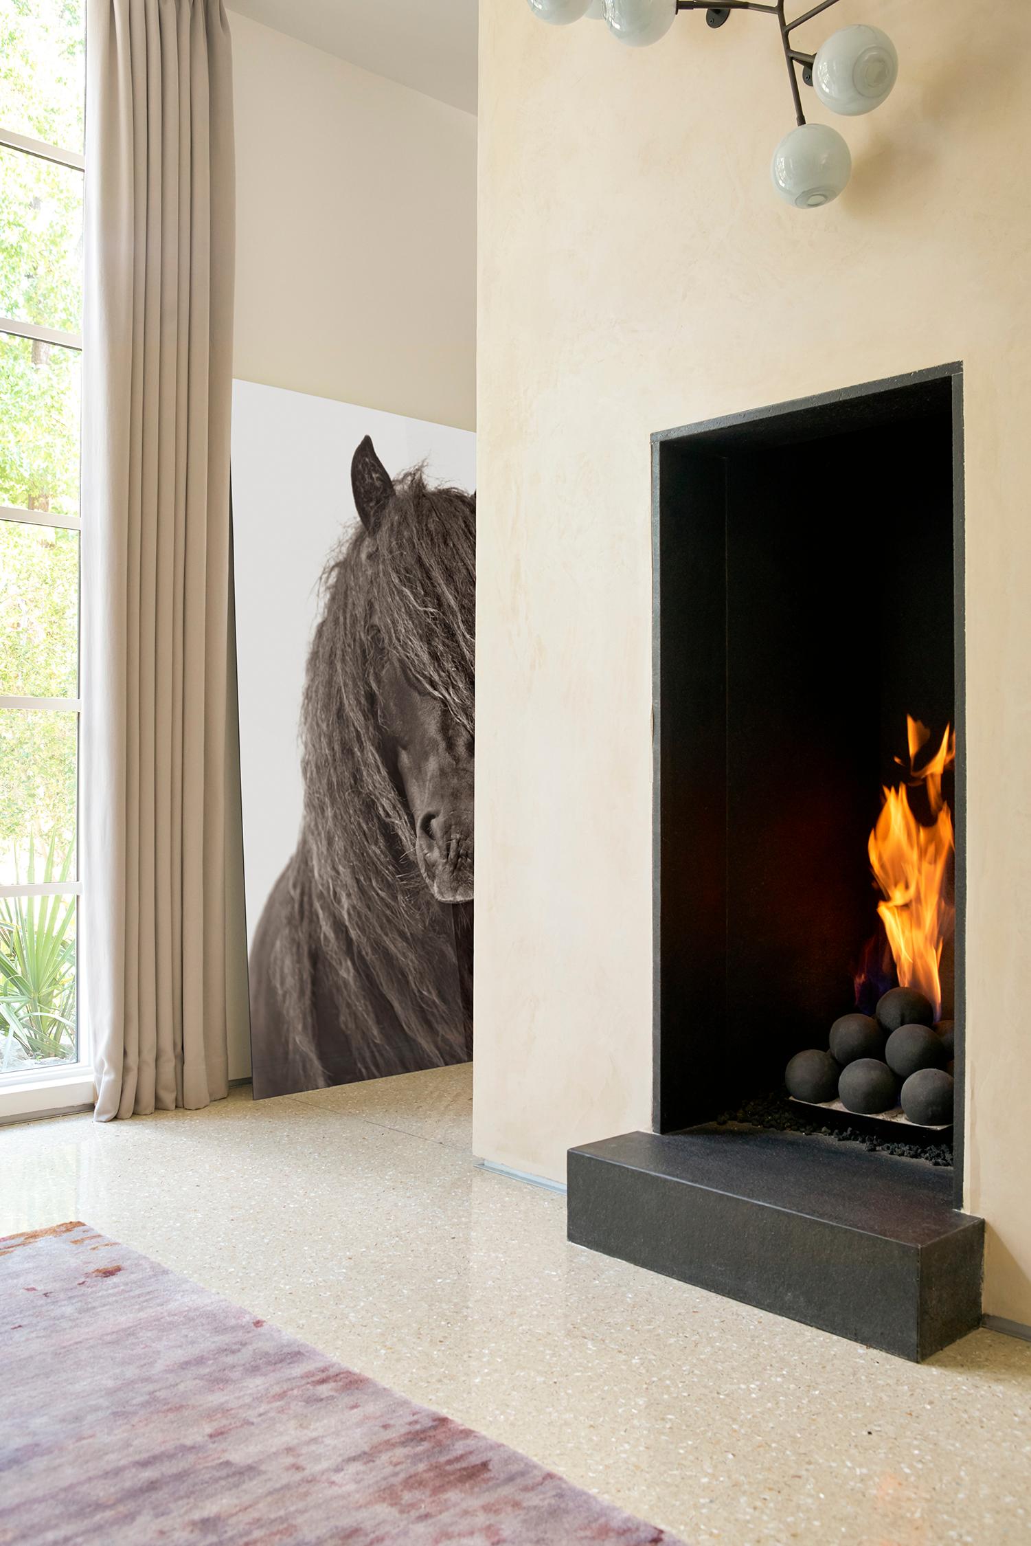
[[[961, 427], [949, 365], [652, 438], [654, 1132], [569, 1155], [570, 1240], [907, 1357], [980, 1322], [983, 1224], [961, 1212]], [[836, 1079], [832, 1025], [856, 1008], [873, 1025], [881, 993], [924, 983], [912, 887], [892, 903], [870, 863], [907, 776], [924, 847], [935, 790], [949, 843], [955, 827], [935, 1013], [903, 1014], [954, 1022], [949, 1059], [938, 1033], [907, 1033], [941, 1070], [932, 1122], [898, 1108], [890, 1042], [861, 1048], [876, 1110], [784, 1082], [805, 1050]]]

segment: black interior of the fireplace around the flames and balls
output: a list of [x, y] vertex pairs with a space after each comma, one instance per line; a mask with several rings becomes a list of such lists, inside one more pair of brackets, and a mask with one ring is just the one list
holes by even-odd
[[[961, 516], [958, 366], [654, 439], [660, 1133], [847, 1129], [937, 1164], [961, 1136]], [[784, 1085], [793, 1054], [825, 1053], [835, 1020], [898, 982], [869, 841], [884, 788], [906, 787], [910, 720], [921, 759], [958, 734], [934, 1016], [955, 1025], [951, 1130]], [[926, 788], [909, 798], [927, 822]]]

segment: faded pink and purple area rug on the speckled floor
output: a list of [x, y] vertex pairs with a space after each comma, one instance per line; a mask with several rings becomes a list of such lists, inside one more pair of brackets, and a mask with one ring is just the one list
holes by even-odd
[[88, 1224], [0, 1240], [0, 1543], [674, 1537]]

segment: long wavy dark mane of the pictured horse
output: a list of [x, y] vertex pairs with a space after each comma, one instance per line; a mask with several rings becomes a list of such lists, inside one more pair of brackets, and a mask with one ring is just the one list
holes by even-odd
[[400, 660], [471, 736], [475, 598], [475, 496], [431, 487], [422, 465], [394, 482], [376, 535], [359, 524], [323, 570], [301, 703], [305, 812], [271, 962], [298, 1088], [326, 1082], [317, 959], [365, 1078], [467, 1056], [454, 920], [419, 875], [379, 686]]

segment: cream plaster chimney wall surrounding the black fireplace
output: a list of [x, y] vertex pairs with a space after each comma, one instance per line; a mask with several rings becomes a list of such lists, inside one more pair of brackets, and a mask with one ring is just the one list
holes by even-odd
[[903, 65], [844, 125], [846, 195], [796, 212], [768, 182], [791, 111], [765, 17], [686, 15], [631, 51], [481, 0], [478, 411], [475, 1147], [561, 1177], [567, 1146], [649, 1124], [649, 433], [965, 362], [968, 1206], [985, 1308], [1023, 1322], [1029, 9], [842, 0], [810, 23], [799, 46], [883, 25]]

